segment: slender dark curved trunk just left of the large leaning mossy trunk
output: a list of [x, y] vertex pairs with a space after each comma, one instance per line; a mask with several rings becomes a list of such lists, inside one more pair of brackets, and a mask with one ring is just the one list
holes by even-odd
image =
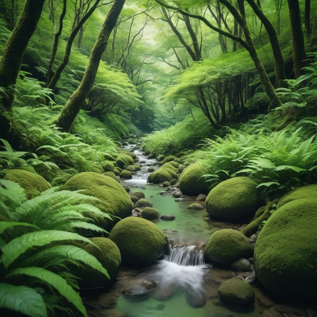
[[65, 53], [64, 53], [64, 57], [63, 60], [61, 61], [61, 63], [57, 66], [56, 71], [54, 76], [52, 77], [51, 81], [48, 84], [48, 88], [54, 90], [55, 86], [57, 84], [57, 82], [59, 81], [59, 79], [61, 78], [61, 73], [63, 72], [63, 70], [65, 69], [66, 65], [68, 64], [69, 61], [69, 56], [70, 56], [70, 52], [72, 50], [72, 45], [75, 39], [75, 36], [77, 35], [77, 33], [79, 32], [80, 28], [83, 26], [83, 24], [87, 21], [87, 19], [89, 18], [89, 16], [92, 15], [92, 13], [94, 12], [94, 10], [96, 9], [98, 3], [100, 2], [100, 0], [96, 0], [96, 2], [94, 3], [94, 5], [90, 8], [90, 10], [81, 18], [81, 20], [79, 20], [79, 22], [77, 23], [76, 27], [72, 30], [72, 32], [70, 33], [70, 36], [68, 38], [67, 44], [66, 44], [66, 49], [65, 49]]

